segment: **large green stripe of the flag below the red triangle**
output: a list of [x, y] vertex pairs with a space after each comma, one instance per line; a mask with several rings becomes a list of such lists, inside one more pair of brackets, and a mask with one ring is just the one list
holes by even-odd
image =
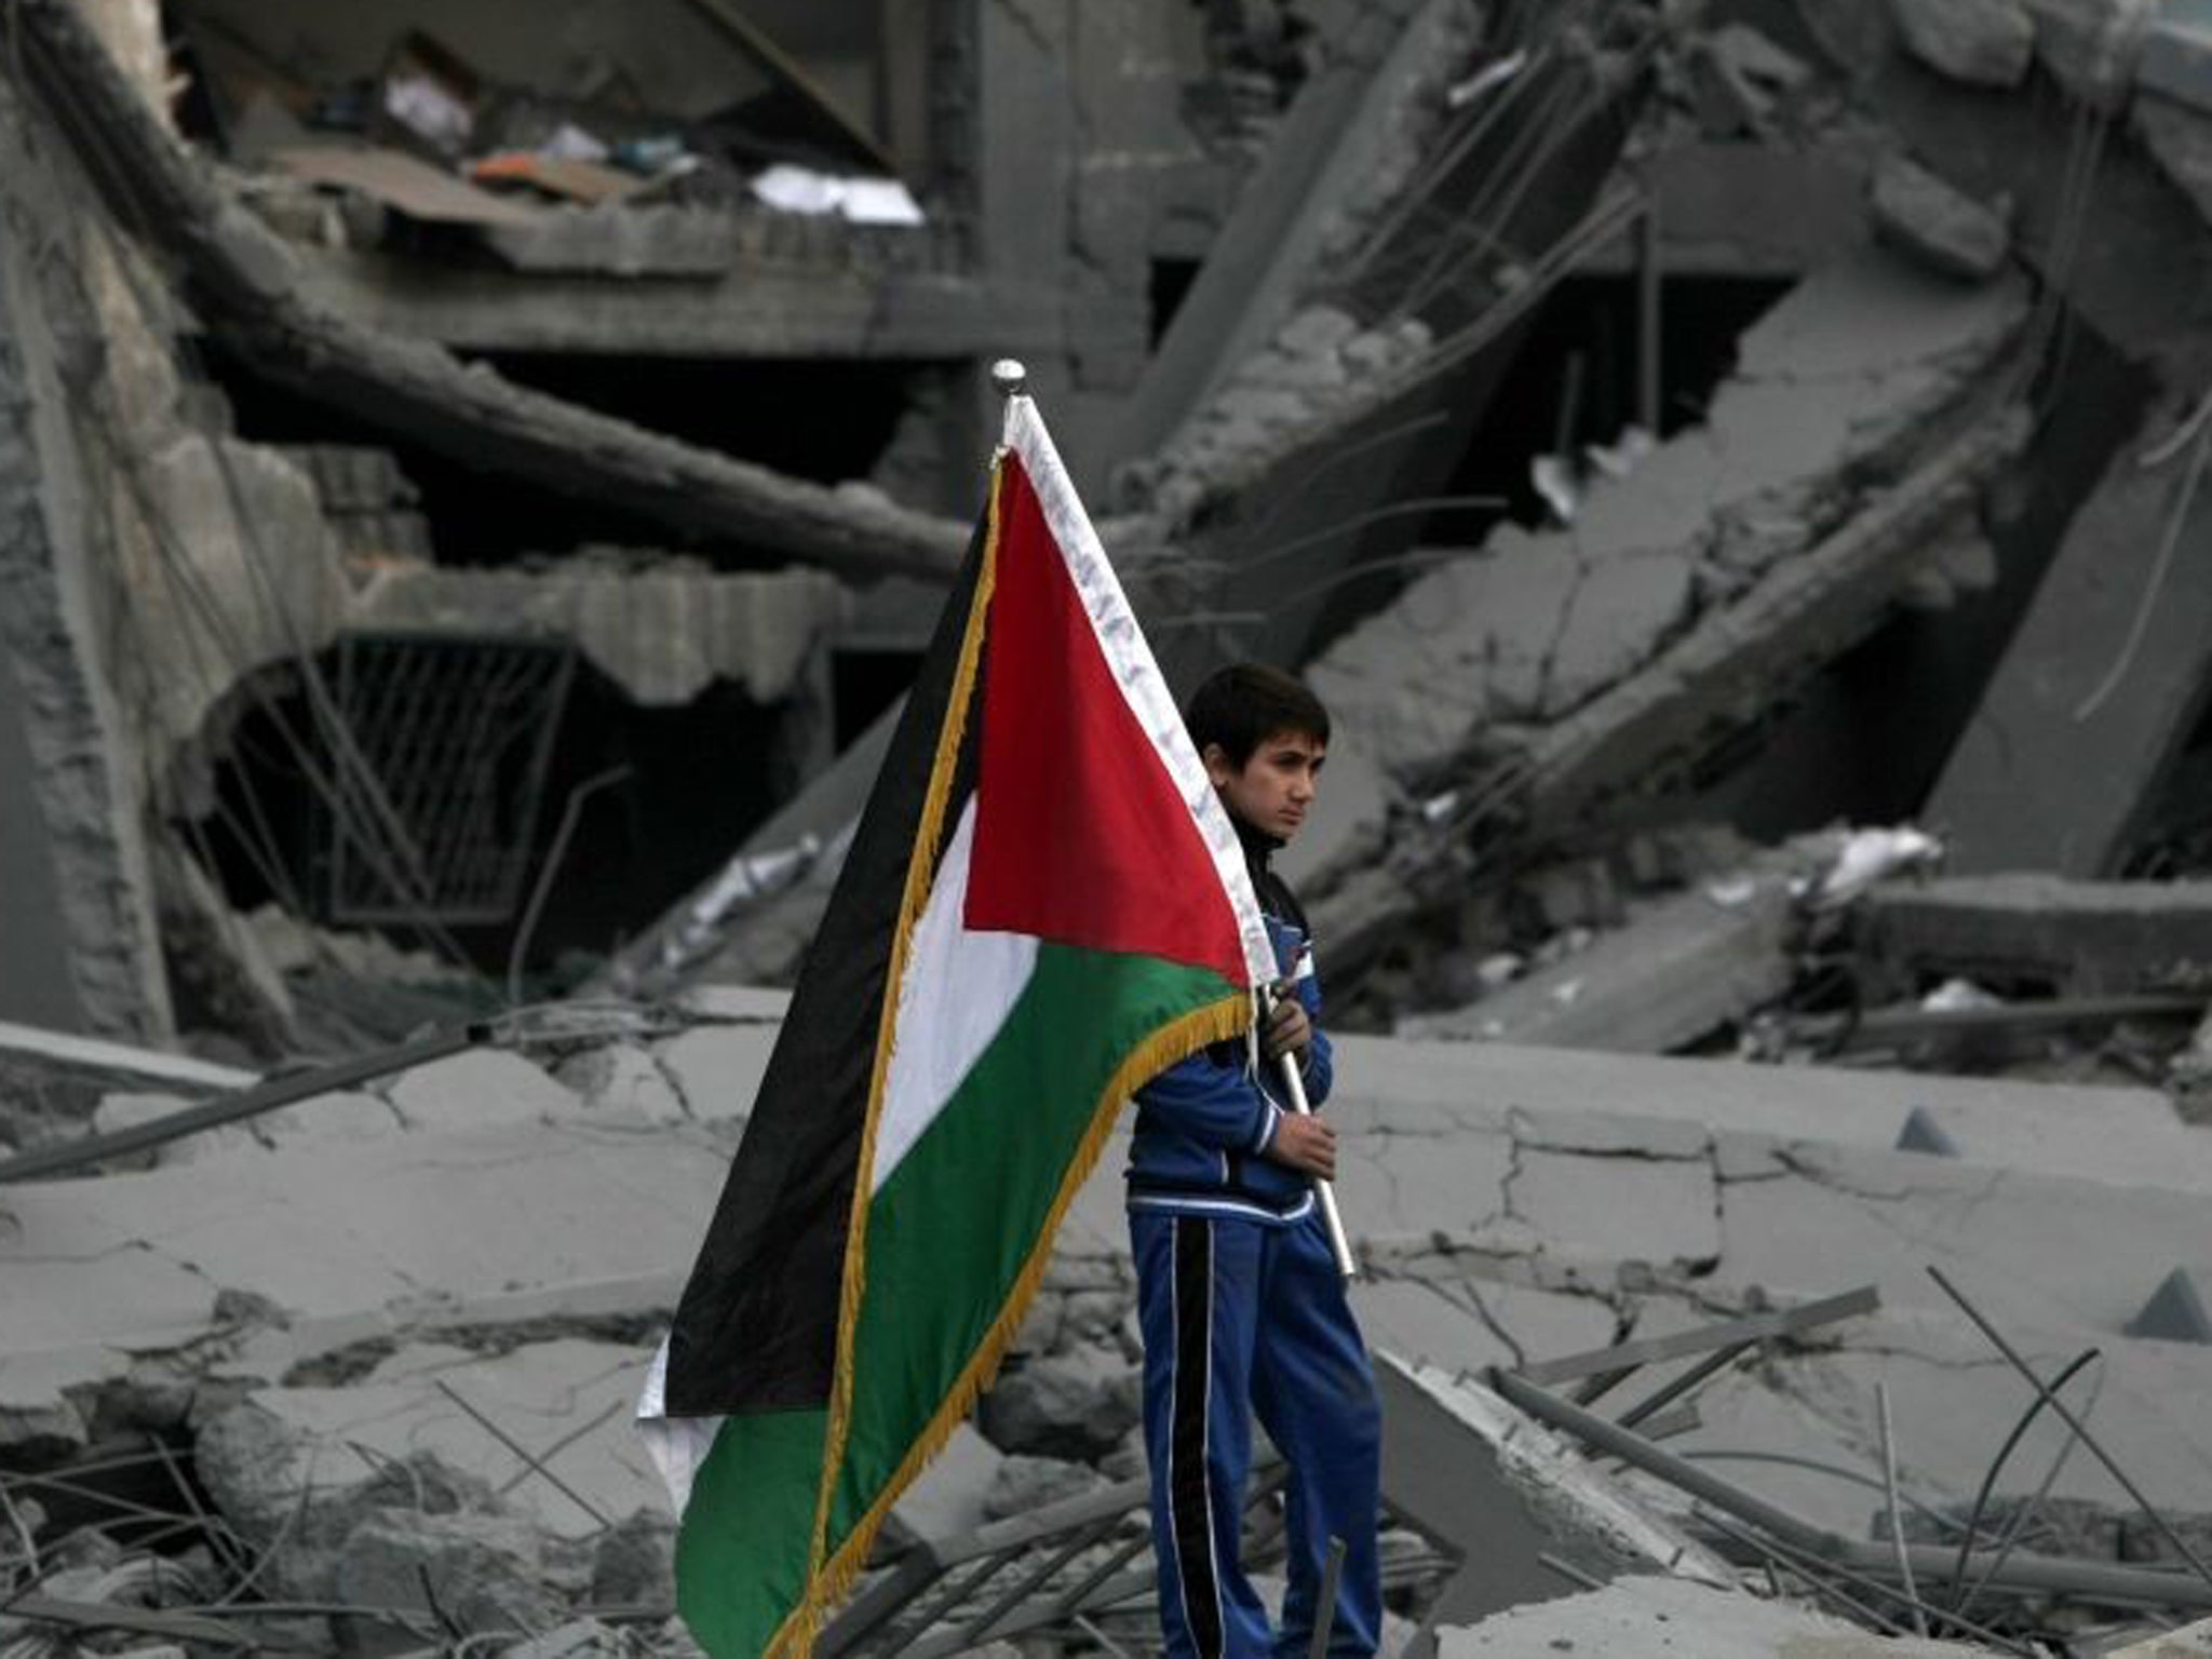
[[[1022, 1287], [1115, 1073], [1175, 1022], [1234, 995], [1212, 969], [1062, 945], [1037, 951], [1006, 1024], [869, 1208], [832, 1553], [909, 1451], [933, 1449], [949, 1429], [940, 1409], [973, 1383], [971, 1363]], [[958, 1407], [964, 1413], [967, 1400]]]

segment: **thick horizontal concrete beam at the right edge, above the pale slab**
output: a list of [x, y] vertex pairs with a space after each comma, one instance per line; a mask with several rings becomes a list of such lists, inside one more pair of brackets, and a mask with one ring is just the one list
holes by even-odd
[[2057, 995], [2201, 989], [2212, 980], [2212, 880], [1951, 876], [1876, 887], [1858, 905], [1869, 987], [2035, 980]]

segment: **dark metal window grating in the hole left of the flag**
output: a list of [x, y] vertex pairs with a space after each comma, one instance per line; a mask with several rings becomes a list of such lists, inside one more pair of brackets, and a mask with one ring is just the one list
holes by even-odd
[[341, 639], [327, 918], [511, 920], [573, 679], [568, 644]]

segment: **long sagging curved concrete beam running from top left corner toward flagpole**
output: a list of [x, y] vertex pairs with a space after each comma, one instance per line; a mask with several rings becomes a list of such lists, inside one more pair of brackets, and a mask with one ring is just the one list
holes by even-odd
[[480, 471], [841, 575], [945, 580], [967, 526], [849, 500], [504, 380], [305, 296], [290, 248], [173, 139], [71, 0], [24, 0], [11, 55], [117, 217], [184, 279], [201, 321], [257, 374]]

